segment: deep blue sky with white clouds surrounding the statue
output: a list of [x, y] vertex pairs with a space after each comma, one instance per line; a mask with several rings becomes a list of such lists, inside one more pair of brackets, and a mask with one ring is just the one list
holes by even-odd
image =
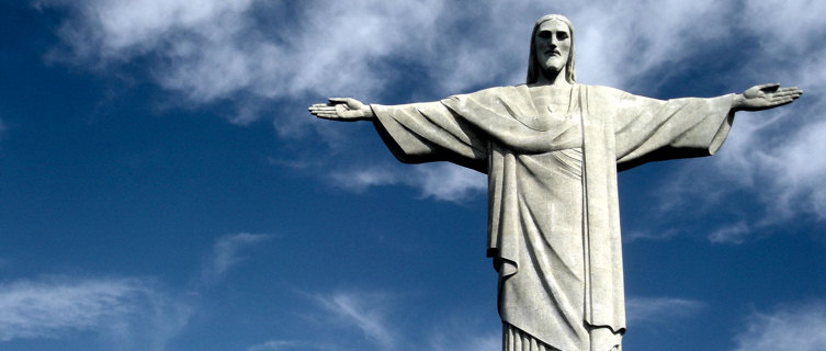
[[520, 83], [546, 13], [584, 83], [805, 91], [620, 176], [624, 347], [826, 348], [826, 4], [37, 0], [0, 3], [0, 349], [498, 350], [484, 177], [306, 107]]

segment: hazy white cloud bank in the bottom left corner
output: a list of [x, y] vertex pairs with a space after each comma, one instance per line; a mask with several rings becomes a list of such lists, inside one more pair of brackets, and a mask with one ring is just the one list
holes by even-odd
[[0, 283], [0, 341], [92, 331], [116, 350], [163, 350], [191, 307], [137, 279], [48, 278]]

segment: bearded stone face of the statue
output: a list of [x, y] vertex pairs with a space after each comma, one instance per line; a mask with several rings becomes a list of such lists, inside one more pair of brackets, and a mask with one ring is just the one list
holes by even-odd
[[543, 22], [536, 31], [534, 45], [536, 61], [543, 71], [562, 71], [570, 55], [568, 25], [556, 20]]

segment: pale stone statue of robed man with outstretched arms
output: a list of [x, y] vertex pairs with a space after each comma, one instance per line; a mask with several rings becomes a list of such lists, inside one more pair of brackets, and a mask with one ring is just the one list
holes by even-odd
[[370, 120], [403, 162], [450, 161], [488, 176], [488, 250], [499, 274], [503, 350], [621, 350], [625, 303], [616, 171], [713, 155], [736, 111], [791, 103], [802, 91], [668, 101], [576, 83], [574, 27], [540, 19], [528, 82], [442, 101], [309, 111]]

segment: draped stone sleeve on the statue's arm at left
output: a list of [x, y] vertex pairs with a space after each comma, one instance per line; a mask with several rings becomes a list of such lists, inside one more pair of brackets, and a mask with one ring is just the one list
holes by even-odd
[[399, 161], [450, 161], [487, 173], [487, 141], [441, 102], [370, 106], [373, 124]]

